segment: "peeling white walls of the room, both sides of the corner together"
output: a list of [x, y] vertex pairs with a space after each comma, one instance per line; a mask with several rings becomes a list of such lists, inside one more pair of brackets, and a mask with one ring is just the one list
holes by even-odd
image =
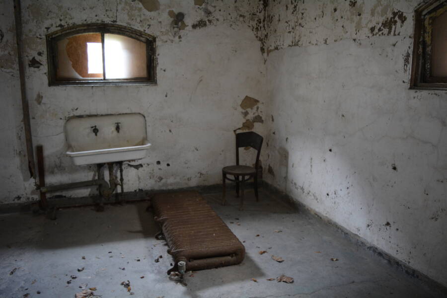
[[[277, 0], [265, 22], [262, 1], [160, 2], [149, 12], [128, 0], [23, 1], [25, 59], [43, 64], [27, 67], [26, 77], [49, 184], [94, 176], [64, 155], [63, 125], [73, 115], [146, 116], [153, 147], [134, 162], [143, 167], [125, 167], [130, 191], [220, 183], [220, 168], [234, 158], [232, 130], [260, 114], [265, 122], [254, 130], [267, 136], [265, 179], [447, 285], [447, 95], [408, 89], [418, 1]], [[0, 134], [7, 140], [0, 200], [23, 202], [37, 197], [23, 168], [13, 9], [0, 5]], [[170, 35], [170, 9], [186, 14], [181, 39]], [[200, 19], [208, 25], [192, 29]], [[156, 86], [48, 87], [46, 33], [115, 21], [157, 36]], [[243, 116], [245, 95], [260, 103]]]

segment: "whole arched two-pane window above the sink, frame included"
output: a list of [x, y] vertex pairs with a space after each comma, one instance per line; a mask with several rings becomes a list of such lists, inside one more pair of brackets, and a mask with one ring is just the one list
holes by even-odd
[[114, 24], [85, 24], [47, 35], [49, 85], [155, 83], [155, 38]]

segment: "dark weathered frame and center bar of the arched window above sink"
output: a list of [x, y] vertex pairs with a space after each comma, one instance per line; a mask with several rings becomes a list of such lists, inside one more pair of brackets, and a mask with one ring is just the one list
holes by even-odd
[[[124, 78], [124, 79], [57, 79], [56, 70], [58, 66], [57, 43], [66, 37], [83, 33], [100, 33], [102, 43], [103, 73], [104, 64], [104, 34], [112, 33], [127, 36], [146, 44], [147, 77], [146, 78]], [[155, 60], [155, 37], [145, 32], [116, 24], [92, 23], [75, 25], [46, 35], [47, 60], [48, 60], [48, 85], [132, 85], [132, 84], [156, 84], [156, 60]]]

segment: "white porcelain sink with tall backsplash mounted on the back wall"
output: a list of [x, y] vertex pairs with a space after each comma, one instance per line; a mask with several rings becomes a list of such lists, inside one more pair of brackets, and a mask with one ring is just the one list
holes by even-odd
[[138, 113], [76, 116], [65, 123], [65, 136], [76, 165], [141, 159], [150, 147], [146, 119]]

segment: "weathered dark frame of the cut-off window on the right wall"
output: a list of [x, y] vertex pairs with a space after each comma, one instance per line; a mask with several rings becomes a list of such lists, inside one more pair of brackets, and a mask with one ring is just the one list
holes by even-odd
[[415, 10], [410, 89], [447, 90], [447, 76], [431, 76], [433, 18], [447, 10], [447, 0], [431, 0]]

